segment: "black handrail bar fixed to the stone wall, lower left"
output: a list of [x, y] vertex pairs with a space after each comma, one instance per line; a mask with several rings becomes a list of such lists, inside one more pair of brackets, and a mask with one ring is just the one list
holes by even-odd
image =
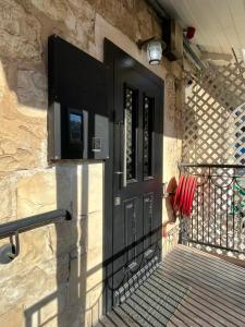
[[32, 217], [19, 219], [0, 225], [0, 240], [15, 235], [16, 233], [23, 233], [28, 230], [46, 226], [52, 222], [59, 222], [63, 220], [71, 220], [72, 216], [68, 210], [58, 209]]

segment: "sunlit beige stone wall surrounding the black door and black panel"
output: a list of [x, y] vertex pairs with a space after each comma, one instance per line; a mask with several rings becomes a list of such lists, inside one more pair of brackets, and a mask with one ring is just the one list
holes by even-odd
[[[1, 327], [89, 326], [101, 312], [103, 164], [47, 160], [53, 33], [101, 61], [107, 37], [149, 68], [135, 41], [161, 28], [143, 0], [0, 0], [0, 223], [56, 208], [74, 218], [21, 234], [20, 256], [0, 265]], [[166, 80], [168, 181], [181, 153], [176, 69], [151, 69]]]

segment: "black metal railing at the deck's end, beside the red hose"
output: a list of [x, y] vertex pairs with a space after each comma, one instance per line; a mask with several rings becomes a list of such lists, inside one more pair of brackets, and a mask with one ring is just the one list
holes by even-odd
[[245, 166], [181, 164], [197, 178], [193, 213], [182, 217], [180, 242], [220, 254], [245, 254]]

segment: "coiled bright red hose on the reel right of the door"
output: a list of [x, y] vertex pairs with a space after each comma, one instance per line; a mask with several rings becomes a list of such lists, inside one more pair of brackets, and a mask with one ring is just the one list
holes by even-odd
[[195, 177], [183, 174], [180, 175], [173, 207], [182, 216], [189, 217], [192, 214], [196, 185], [197, 180]]

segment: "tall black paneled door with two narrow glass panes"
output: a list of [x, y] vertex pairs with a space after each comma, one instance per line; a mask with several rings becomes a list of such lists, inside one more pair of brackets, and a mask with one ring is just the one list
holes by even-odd
[[105, 53], [111, 112], [105, 181], [108, 310], [120, 287], [160, 256], [163, 81], [108, 40]]

